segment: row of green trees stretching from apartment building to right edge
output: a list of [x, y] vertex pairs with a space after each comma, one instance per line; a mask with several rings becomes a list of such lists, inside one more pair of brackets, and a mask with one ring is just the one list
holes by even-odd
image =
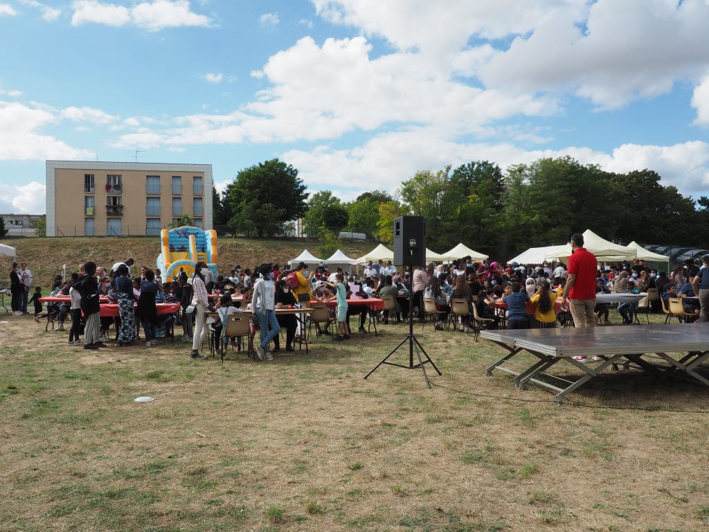
[[341, 201], [327, 190], [308, 198], [298, 170], [274, 159], [238, 172], [223, 194], [213, 191], [214, 223], [269, 238], [302, 218], [303, 232], [320, 239], [323, 254], [337, 248], [340, 231], [390, 244], [393, 218], [406, 214], [424, 216], [428, 248], [439, 252], [462, 242], [491, 257], [511, 257], [566, 243], [586, 229], [622, 244], [709, 248], [709, 198], [695, 201], [660, 180], [654, 170], [605, 172], [568, 156], [504, 172], [482, 160], [416, 172], [395, 194], [373, 190]]

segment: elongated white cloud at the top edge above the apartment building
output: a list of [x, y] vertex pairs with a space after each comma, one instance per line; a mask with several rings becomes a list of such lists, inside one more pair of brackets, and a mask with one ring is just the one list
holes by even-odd
[[210, 26], [211, 18], [191, 11], [189, 0], [152, 0], [135, 4], [128, 9], [118, 4], [99, 0], [76, 0], [72, 4], [72, 25], [85, 23], [126, 26], [133, 24], [147, 31], [182, 26]]

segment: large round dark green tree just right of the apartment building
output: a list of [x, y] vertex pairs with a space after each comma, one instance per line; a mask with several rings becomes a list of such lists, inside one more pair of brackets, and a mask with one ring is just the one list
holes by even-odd
[[228, 225], [235, 233], [271, 237], [284, 222], [306, 213], [308, 194], [298, 170], [278, 159], [240, 170], [232, 184], [226, 199], [232, 210]]

